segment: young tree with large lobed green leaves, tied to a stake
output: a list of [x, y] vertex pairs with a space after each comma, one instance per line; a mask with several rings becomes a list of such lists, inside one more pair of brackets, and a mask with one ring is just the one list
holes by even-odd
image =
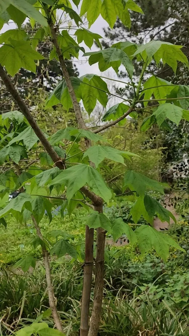
[[[74, 0], [73, 2], [77, 6], [80, 1]], [[78, 26], [75, 32], [77, 42], [68, 34], [67, 29], [60, 30], [59, 21], [56, 20], [56, 9], [62, 9], [75, 21]], [[14, 76], [21, 67], [27, 71], [35, 72], [36, 64], [34, 60], [43, 59], [44, 56], [32, 48], [32, 41], [29, 37], [24, 39], [19, 37], [15, 40], [15, 32], [7, 34], [8, 39], [4, 36], [4, 41], [2, 41], [4, 44], [0, 49], [0, 77], [20, 111], [11, 110], [1, 116], [2, 149], [0, 155], [3, 173], [0, 175], [0, 181], [5, 187], [1, 191], [1, 195], [9, 192], [9, 188], [18, 186], [20, 186], [21, 193], [0, 211], [0, 220], [1, 224], [6, 226], [5, 216], [9, 213], [12, 213], [20, 221], [26, 221], [31, 216], [36, 228], [36, 239], [32, 243], [34, 248], [41, 245], [46, 270], [49, 306], [52, 310], [56, 328], [62, 332], [61, 320], [55, 305], [48, 255], [50, 253], [60, 257], [68, 253], [77, 259], [78, 252], [74, 247], [73, 237], [69, 233], [62, 231], [51, 232], [51, 237], [42, 237], [39, 223], [45, 210], [49, 220], [51, 220], [51, 208], [56, 204], [61, 205], [61, 213], [66, 207], [71, 212], [77, 203], [87, 205], [92, 209], [90, 215], [86, 217], [80, 328], [80, 335], [82, 336], [97, 336], [98, 334], [103, 299], [106, 232], [112, 232], [115, 239], [125, 232], [131, 244], [139, 244], [141, 253], [146, 253], [153, 247], [164, 260], [168, 256], [169, 246], [174, 246], [184, 251], [174, 240], [163, 233], [157, 232], [150, 225], [155, 213], [162, 221], [169, 222], [170, 217], [174, 220], [175, 217], [148, 194], [149, 190], [155, 190], [163, 194], [165, 185], [147, 176], [143, 176], [133, 170], [126, 170], [123, 178], [123, 191], [129, 188], [130, 191], [136, 194], [136, 202], [131, 209], [134, 222], [137, 223], [141, 215], [143, 215], [149, 225], [142, 225], [133, 230], [120, 218], [111, 223], [103, 214], [103, 203], [108, 203], [113, 197], [113, 193], [108, 182], [106, 183], [101, 176], [102, 161], [106, 158], [124, 164], [124, 159], [130, 160], [135, 154], [112, 148], [106, 143], [106, 139], [99, 135], [100, 132], [116, 125], [128, 115], [137, 117], [141, 111], [150, 113], [149, 117], [141, 125], [142, 131], [147, 130], [154, 123], [157, 123], [160, 127], [166, 127], [167, 119], [174, 121], [178, 125], [182, 118], [188, 118], [188, 111], [186, 110], [186, 104], [189, 99], [186, 95], [187, 89], [179, 90], [177, 85], [162, 82], [161, 80], [157, 81], [156, 85], [152, 85], [152, 82], [155, 81], [153, 76], [152, 79], [150, 78], [144, 83], [145, 88], [142, 88], [144, 74], [148, 71], [151, 62], [158, 64], [162, 59], [174, 71], [177, 69], [177, 61], [189, 67], [187, 57], [182, 52], [181, 46], [161, 41], [151, 41], [138, 47], [135, 43], [125, 44], [120, 42], [111, 48], [85, 53], [86, 56], [89, 56], [89, 64], [98, 62], [101, 71], [113, 67], [117, 72], [122, 64], [128, 73], [130, 85], [133, 86], [134, 90], [133, 99], [128, 99], [128, 104], [119, 103], [112, 106], [103, 116], [102, 120], [105, 123], [99, 127], [97, 126], [93, 132], [89, 131], [84, 123], [79, 101], [82, 100], [84, 108], [90, 116], [97, 100], [103, 106], [106, 106], [108, 101], [107, 94], [109, 94], [107, 84], [101, 77], [93, 74], [86, 74], [80, 78], [70, 77], [65, 63], [65, 58], [71, 57], [70, 55], [78, 56], [78, 51], [81, 49], [79, 44], [83, 40], [89, 47], [91, 47], [94, 40], [101, 47], [99, 41], [101, 37], [83, 27], [81, 17], [83, 14], [87, 13], [89, 26], [95, 22], [100, 13], [107, 20], [110, 27], [114, 26], [117, 16], [126, 26], [129, 26], [128, 9], [141, 12], [140, 7], [133, 0], [123, 2], [121, 0], [116, 2], [104, 0], [103, 3], [100, 0], [90, 2], [83, 0], [80, 15], [72, 9], [68, 0], [38, 1], [33, 3], [33, 6], [31, 1], [6, 0], [1, 5], [2, 18], [7, 12], [20, 26], [19, 23], [23, 22], [27, 15], [44, 28], [44, 35], [41, 39], [52, 41], [53, 49], [49, 58], [53, 59], [55, 57], [59, 60], [64, 76], [64, 79], [49, 94], [46, 100], [46, 107], [61, 103], [65, 109], [69, 110], [73, 106], [79, 128], [67, 127], [58, 130], [51, 136], [41, 130], [32, 116], [32, 109], [29, 110], [26, 106], [21, 95], [16, 91], [12, 81], [7, 76], [6, 71], [11, 76]], [[15, 11], [18, 11], [16, 19]], [[138, 60], [142, 61], [143, 66], [137, 85], [135, 85], [133, 71], [134, 64]], [[5, 67], [6, 71], [3, 67]], [[158, 88], [158, 93], [156, 90], [154, 92], [157, 106], [149, 107], [146, 102], [149, 101], [149, 95], [154, 86]], [[146, 96], [141, 99], [144, 91]], [[170, 93], [171, 98], [168, 98], [167, 96]], [[138, 103], [144, 103], [145, 107], [141, 110]], [[183, 103], [185, 103], [184, 107]], [[7, 129], [11, 120], [13, 121], [13, 129], [9, 133]], [[109, 122], [106, 122], [107, 120]], [[64, 143], [62, 141], [64, 139], [67, 139], [68, 142]], [[84, 145], [81, 139], [84, 139]], [[94, 144], [92, 145], [92, 143]], [[32, 164], [37, 162], [40, 165], [38, 174], [36, 172], [32, 173], [34, 169], [30, 169], [30, 163], [23, 161], [23, 158], [28, 158], [28, 156], [31, 156]], [[41, 169], [41, 166], [46, 166], [48, 169]], [[27, 193], [24, 192], [26, 183], [30, 183]], [[34, 195], [33, 190], [36, 186], [39, 188], [38, 191], [40, 187], [45, 187], [46, 195], [40, 195], [39, 193], [37, 196]], [[62, 193], [61, 197], [59, 196], [60, 193]], [[93, 259], [94, 229], [97, 231], [95, 261]], [[57, 237], [61, 237], [61, 239]], [[55, 244], [53, 238], [57, 240]], [[88, 326], [91, 277], [94, 264], [96, 268], [95, 289], [90, 325]], [[30, 266], [35, 267], [35, 259], [31, 256], [26, 256], [16, 266], [22, 267], [26, 271]]]

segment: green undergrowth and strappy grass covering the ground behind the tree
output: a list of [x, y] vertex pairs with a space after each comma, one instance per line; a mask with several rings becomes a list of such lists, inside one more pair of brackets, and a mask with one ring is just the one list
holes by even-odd
[[[105, 209], [111, 218], [122, 216], [129, 221], [129, 202], [120, 207]], [[124, 202], [124, 200], [122, 201]], [[78, 216], [78, 211], [80, 217]], [[82, 212], [82, 213], [81, 213]], [[86, 210], [76, 209], [70, 216], [54, 216], [49, 224], [46, 217], [41, 230], [47, 234], [52, 229], [62, 229], [74, 234], [82, 244]], [[0, 335], [11, 335], [23, 326], [36, 321], [46, 321], [53, 327], [48, 310], [45, 270], [40, 249], [31, 250], [29, 242], [34, 230], [29, 221], [26, 226], [9, 217], [7, 229], [0, 227], [1, 280], [0, 280]], [[182, 220], [169, 232], [188, 251], [189, 226]], [[25, 245], [24, 243], [25, 242]], [[14, 269], [14, 263], [23, 254], [33, 253], [38, 258], [37, 267], [23, 273]], [[187, 252], [188, 253], [188, 252]], [[189, 262], [187, 254], [171, 248], [165, 263], [151, 252], [141, 256], [137, 247], [112, 246], [105, 250], [105, 287], [101, 336], [188, 336], [189, 335]], [[52, 281], [57, 307], [66, 335], [77, 336], [80, 321], [82, 294], [82, 262], [67, 257], [51, 258]], [[93, 297], [92, 282], [92, 294]]]

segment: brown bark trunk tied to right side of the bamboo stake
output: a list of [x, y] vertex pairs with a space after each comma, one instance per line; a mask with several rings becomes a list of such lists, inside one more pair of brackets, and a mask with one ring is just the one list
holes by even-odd
[[[95, 211], [103, 212], [102, 205], [96, 206]], [[104, 287], [104, 249], [106, 232], [102, 227], [97, 228], [97, 254], [95, 260], [96, 276], [94, 301], [88, 336], [97, 336], [101, 318], [103, 287]]]

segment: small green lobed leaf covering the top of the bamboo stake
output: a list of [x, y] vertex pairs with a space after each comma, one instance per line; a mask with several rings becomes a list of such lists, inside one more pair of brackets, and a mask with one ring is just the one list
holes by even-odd
[[106, 231], [110, 231], [111, 222], [103, 213], [94, 211], [89, 216], [83, 217], [83, 219], [86, 219], [86, 225], [88, 225], [89, 228], [96, 229], [102, 227]]

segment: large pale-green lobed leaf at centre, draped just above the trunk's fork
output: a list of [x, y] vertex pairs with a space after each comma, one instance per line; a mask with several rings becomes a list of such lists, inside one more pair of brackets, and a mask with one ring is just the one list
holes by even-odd
[[57, 183], [65, 183], [67, 185], [68, 202], [86, 183], [90, 186], [91, 190], [102, 197], [105, 202], [109, 202], [112, 198], [111, 191], [106, 186], [100, 173], [96, 169], [85, 164], [78, 164], [62, 171], [49, 185]]

